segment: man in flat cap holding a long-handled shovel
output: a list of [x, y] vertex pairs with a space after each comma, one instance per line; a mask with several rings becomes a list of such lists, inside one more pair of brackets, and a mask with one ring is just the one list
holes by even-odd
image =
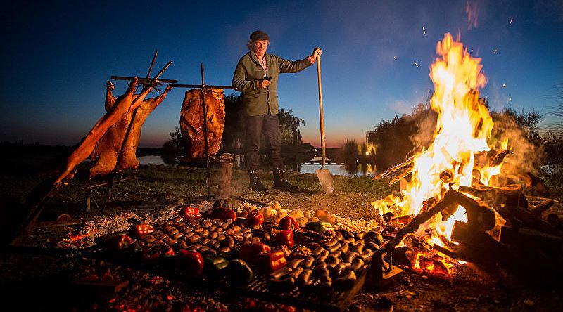
[[236, 65], [232, 86], [242, 92], [243, 105], [246, 113], [246, 153], [250, 188], [266, 190], [258, 176], [258, 153], [260, 152], [260, 135], [265, 134], [268, 142], [268, 153], [274, 173], [274, 188], [295, 190], [282, 170], [281, 138], [279, 136], [277, 79], [282, 72], [301, 72], [314, 64], [320, 48], [314, 48], [312, 55], [303, 60], [285, 60], [273, 54], [267, 54], [270, 37], [262, 30], [256, 30], [248, 41], [246, 53]]

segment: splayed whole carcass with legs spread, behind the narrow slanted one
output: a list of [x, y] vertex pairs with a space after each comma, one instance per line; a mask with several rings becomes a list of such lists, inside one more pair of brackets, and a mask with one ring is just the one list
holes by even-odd
[[[115, 169], [137, 169], [139, 167], [139, 161], [135, 152], [137, 151], [139, 137], [141, 136], [141, 128], [148, 115], [162, 103], [170, 89], [170, 87], [167, 87], [160, 96], [144, 100], [137, 110], [128, 112], [125, 117], [114, 124], [103, 135], [90, 155], [90, 160], [96, 162], [96, 164], [90, 169], [89, 179], [96, 176], [106, 176]], [[108, 91], [106, 93], [107, 111], [111, 110], [115, 102], [112, 91], [113, 84], [108, 82]], [[127, 133], [127, 129], [129, 129], [129, 133]], [[125, 145], [123, 145], [124, 141]], [[122, 154], [120, 155], [121, 150]], [[118, 161], [119, 165], [116, 167]]]

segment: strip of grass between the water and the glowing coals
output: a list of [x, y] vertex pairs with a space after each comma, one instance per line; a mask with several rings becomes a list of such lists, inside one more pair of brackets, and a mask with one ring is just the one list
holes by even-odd
[[[87, 170], [87, 164], [82, 164], [81, 171]], [[218, 168], [210, 170], [211, 193], [217, 190]], [[110, 207], [130, 207], [138, 205], [165, 205], [184, 199], [187, 202], [198, 202], [205, 199], [207, 187], [205, 185], [205, 168], [195, 167], [167, 167], [141, 166], [137, 178], [122, 183], [116, 183], [111, 188]], [[77, 217], [84, 214], [87, 191], [82, 190], [86, 181], [77, 177], [64, 186], [49, 202], [49, 209], [67, 212]], [[398, 186], [387, 186], [388, 181], [373, 181], [366, 176], [348, 177], [333, 176], [335, 192], [325, 195], [315, 174], [286, 174], [290, 183], [299, 187], [298, 193], [273, 190], [273, 176], [271, 172], [260, 171], [260, 177], [269, 190], [255, 192], [248, 189], [248, 175], [246, 171], [233, 170], [232, 195], [256, 202], [279, 202], [288, 209], [328, 209], [329, 212], [339, 213], [341, 216], [359, 218], [373, 212], [370, 202], [385, 197], [389, 193], [398, 194]], [[23, 204], [27, 195], [42, 180], [34, 174], [3, 174], [0, 176], [0, 196], [4, 199], [3, 209], [18, 207], [24, 209]], [[101, 181], [93, 182], [99, 183]], [[101, 204], [103, 190], [99, 188], [91, 192], [94, 200]], [[112, 209], [112, 210], [113, 210]]]

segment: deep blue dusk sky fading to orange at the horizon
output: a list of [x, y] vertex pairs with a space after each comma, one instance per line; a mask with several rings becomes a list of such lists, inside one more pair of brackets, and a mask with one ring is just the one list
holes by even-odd
[[[15, 3], [18, 4], [15, 4]], [[410, 113], [432, 89], [429, 67], [446, 32], [482, 58], [481, 95], [494, 110], [548, 112], [563, 82], [563, 1], [11, 1], [0, 13], [0, 141], [74, 145], [105, 113], [111, 75], [229, 85], [264, 30], [268, 53], [301, 60], [322, 48], [327, 145], [362, 142], [381, 119]], [[503, 86], [505, 85], [505, 86]], [[127, 84], [117, 82], [115, 95]], [[280, 107], [305, 119], [303, 142], [320, 145], [317, 72], [281, 74]], [[148, 117], [141, 147], [160, 147], [179, 126], [185, 89]], [[229, 95], [234, 91], [225, 90]], [[151, 97], [156, 96], [151, 93]], [[549, 117], [545, 122], [549, 122]]]

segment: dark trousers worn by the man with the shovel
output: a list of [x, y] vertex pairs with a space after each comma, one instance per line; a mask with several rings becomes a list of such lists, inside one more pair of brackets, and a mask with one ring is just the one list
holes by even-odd
[[248, 170], [258, 170], [260, 136], [266, 137], [267, 153], [272, 167], [281, 166], [281, 138], [279, 119], [276, 115], [258, 115], [246, 117], [246, 163]]

